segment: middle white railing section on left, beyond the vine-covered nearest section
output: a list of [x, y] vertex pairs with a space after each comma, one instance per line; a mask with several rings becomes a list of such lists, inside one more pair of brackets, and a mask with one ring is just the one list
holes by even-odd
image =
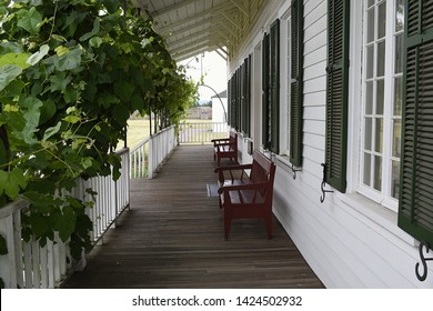
[[174, 127], [167, 128], [144, 139], [131, 150], [131, 178], [153, 178], [159, 165], [177, 146]]

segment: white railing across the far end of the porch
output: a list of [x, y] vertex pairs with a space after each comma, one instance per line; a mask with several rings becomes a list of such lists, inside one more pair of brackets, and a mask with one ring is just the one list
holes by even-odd
[[211, 143], [212, 139], [229, 133], [226, 122], [197, 122], [179, 124], [179, 143]]

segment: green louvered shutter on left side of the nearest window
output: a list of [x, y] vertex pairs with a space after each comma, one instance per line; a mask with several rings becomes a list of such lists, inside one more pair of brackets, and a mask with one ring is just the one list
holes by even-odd
[[346, 187], [349, 0], [328, 1], [325, 182]]

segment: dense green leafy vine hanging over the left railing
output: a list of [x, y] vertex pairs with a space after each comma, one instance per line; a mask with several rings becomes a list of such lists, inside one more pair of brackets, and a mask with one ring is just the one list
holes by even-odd
[[152, 21], [120, 2], [0, 0], [0, 208], [29, 200], [24, 239], [58, 235], [74, 258], [92, 229], [75, 180], [118, 179], [110, 151], [130, 114], [177, 123], [197, 92]]

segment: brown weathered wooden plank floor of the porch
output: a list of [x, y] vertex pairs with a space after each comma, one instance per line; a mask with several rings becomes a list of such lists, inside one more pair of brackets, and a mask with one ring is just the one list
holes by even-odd
[[63, 288], [323, 288], [276, 219], [272, 240], [262, 220], [223, 239], [214, 167], [211, 146], [181, 146], [155, 179], [133, 180], [131, 210]]

